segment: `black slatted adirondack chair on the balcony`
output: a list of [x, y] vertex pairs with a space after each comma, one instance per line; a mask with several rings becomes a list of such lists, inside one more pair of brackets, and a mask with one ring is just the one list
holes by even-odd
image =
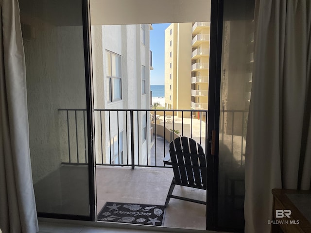
[[165, 207], [171, 198], [206, 205], [206, 201], [172, 195], [176, 184], [207, 189], [207, 163], [202, 146], [191, 138], [178, 137], [170, 143], [170, 154], [165, 156], [163, 162], [166, 165], [172, 165], [174, 172]]

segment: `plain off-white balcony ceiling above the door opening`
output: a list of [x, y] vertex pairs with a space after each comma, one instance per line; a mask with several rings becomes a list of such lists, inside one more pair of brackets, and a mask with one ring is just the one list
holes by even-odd
[[210, 21], [210, 0], [90, 0], [92, 25]]

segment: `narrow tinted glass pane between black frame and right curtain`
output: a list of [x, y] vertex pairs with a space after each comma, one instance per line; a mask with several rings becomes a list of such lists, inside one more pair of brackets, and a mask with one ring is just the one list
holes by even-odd
[[224, 0], [217, 224], [244, 228], [246, 126], [252, 84], [254, 2]]

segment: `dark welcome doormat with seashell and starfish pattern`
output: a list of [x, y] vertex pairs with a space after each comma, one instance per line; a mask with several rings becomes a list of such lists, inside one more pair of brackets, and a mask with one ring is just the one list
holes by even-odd
[[97, 218], [106, 222], [162, 226], [164, 210], [163, 205], [106, 202]]

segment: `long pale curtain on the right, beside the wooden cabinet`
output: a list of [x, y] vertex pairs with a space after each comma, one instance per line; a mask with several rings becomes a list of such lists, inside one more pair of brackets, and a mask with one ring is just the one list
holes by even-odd
[[310, 189], [311, 1], [257, 0], [245, 232], [268, 233], [273, 188]]

